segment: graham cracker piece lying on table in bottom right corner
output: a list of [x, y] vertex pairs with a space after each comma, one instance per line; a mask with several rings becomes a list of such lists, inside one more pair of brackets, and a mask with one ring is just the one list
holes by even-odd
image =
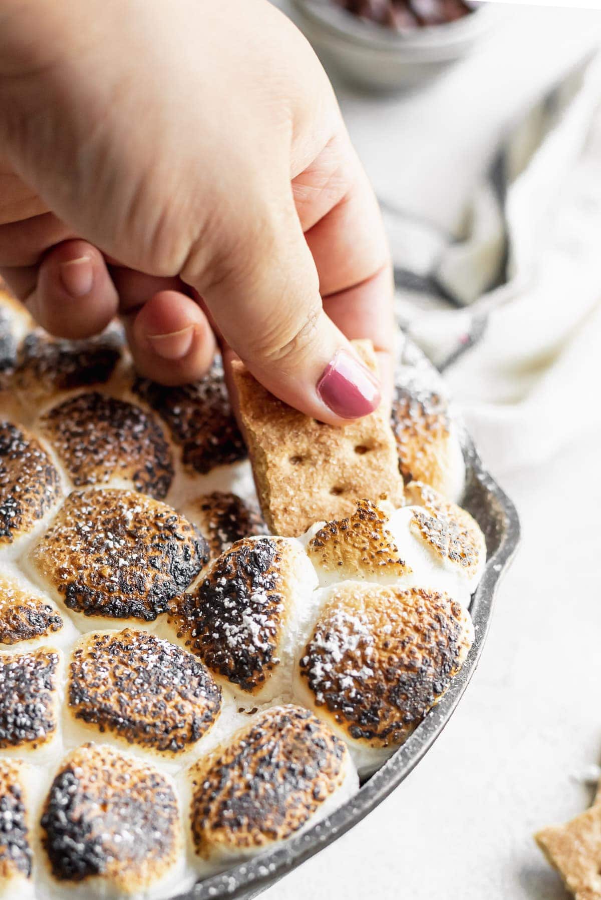
[[576, 900], [601, 900], [599, 804], [564, 825], [542, 829], [534, 840]]

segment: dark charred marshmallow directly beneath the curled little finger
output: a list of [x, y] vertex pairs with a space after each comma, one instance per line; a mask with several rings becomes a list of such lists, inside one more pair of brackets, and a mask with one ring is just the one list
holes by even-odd
[[14, 384], [23, 409], [59, 399], [68, 391], [104, 384], [122, 356], [121, 329], [111, 325], [103, 334], [85, 340], [52, 338], [36, 329], [19, 348]]

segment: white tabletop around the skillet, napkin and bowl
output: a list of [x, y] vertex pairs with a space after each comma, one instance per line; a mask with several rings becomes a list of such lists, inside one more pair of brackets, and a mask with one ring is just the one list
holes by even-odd
[[[378, 193], [445, 226], [499, 129], [601, 21], [509, 11], [503, 33], [423, 94], [341, 93]], [[473, 90], [453, 96], [472, 69]], [[450, 725], [391, 797], [265, 900], [565, 900], [532, 833], [584, 810], [592, 789], [575, 776], [601, 756], [601, 433], [591, 437], [503, 479], [523, 542]]]

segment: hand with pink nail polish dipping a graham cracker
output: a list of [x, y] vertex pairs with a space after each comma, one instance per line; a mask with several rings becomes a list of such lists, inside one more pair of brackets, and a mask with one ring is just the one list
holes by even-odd
[[141, 374], [215, 334], [282, 400], [378, 405], [395, 325], [378, 205], [313, 51], [267, 0], [0, 0], [0, 273], [53, 334], [123, 315]]

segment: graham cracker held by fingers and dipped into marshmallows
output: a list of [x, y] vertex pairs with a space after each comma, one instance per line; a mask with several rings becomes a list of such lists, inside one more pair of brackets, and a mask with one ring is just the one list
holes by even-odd
[[[375, 371], [371, 343], [352, 343]], [[260, 506], [274, 534], [298, 536], [314, 522], [351, 516], [364, 497], [386, 494], [394, 507], [402, 504], [387, 410], [335, 428], [278, 400], [241, 363], [233, 374]]]

